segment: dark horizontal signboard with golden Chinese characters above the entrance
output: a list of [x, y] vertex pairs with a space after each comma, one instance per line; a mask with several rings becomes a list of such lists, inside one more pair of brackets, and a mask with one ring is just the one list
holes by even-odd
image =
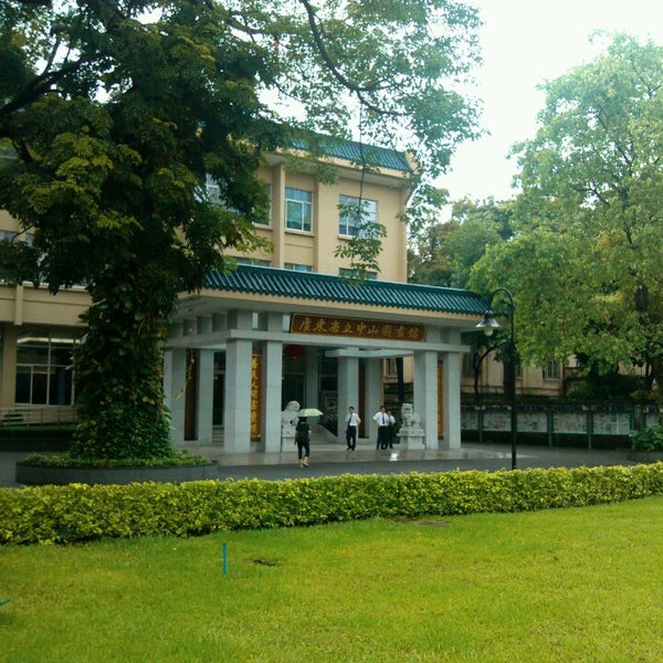
[[293, 313], [291, 334], [315, 334], [318, 336], [355, 336], [357, 338], [380, 338], [386, 340], [425, 340], [423, 325], [341, 318], [329, 315], [307, 315]]

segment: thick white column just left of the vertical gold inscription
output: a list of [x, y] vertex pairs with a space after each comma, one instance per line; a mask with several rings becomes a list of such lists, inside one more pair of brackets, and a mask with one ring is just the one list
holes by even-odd
[[[229, 312], [229, 328], [251, 327], [250, 311]], [[225, 349], [223, 446], [228, 453], [251, 451], [251, 340], [231, 339]]]

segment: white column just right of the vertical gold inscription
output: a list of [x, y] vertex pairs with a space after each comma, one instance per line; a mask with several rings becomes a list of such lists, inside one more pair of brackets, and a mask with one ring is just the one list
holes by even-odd
[[[283, 332], [283, 316], [267, 314], [267, 332]], [[260, 451], [275, 453], [281, 451], [281, 408], [283, 387], [283, 344], [267, 340], [262, 347], [262, 403]]]

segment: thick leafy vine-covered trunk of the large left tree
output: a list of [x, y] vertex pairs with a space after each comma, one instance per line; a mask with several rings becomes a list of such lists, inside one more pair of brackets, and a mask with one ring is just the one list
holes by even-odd
[[[134, 272], [137, 274], [137, 272]], [[73, 454], [90, 460], [151, 459], [172, 453], [164, 406], [162, 350], [172, 293], [140, 275], [95, 287], [74, 352], [80, 424]], [[158, 290], [161, 293], [158, 293]], [[155, 294], [157, 293], [157, 296]], [[161, 298], [158, 294], [164, 295]], [[162, 311], [145, 311], [162, 302]]]

